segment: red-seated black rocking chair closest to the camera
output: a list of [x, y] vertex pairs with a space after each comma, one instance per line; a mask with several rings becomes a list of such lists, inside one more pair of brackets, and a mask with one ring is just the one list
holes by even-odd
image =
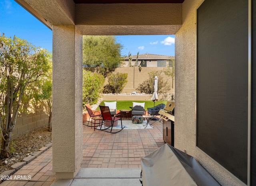
[[[100, 106], [100, 111], [101, 111], [102, 118], [103, 118], [102, 124], [103, 124], [103, 121], [105, 122], [105, 128], [102, 129], [102, 125], [101, 125], [100, 130], [104, 130], [104, 131], [109, 132], [109, 133], [118, 133], [122, 129], [124, 129], [123, 124], [122, 124], [121, 114], [116, 114], [116, 116], [112, 116], [108, 106]], [[117, 116], [120, 116], [120, 117], [117, 117]], [[118, 120], [121, 120], [121, 129], [118, 130], [118, 131], [112, 132], [112, 128], [117, 125]], [[106, 128], [106, 126], [107, 126], [106, 123], [110, 123], [110, 126], [107, 127], [107, 128]], [[107, 131], [106, 129], [109, 129], [110, 127], [111, 127], [110, 131]]]

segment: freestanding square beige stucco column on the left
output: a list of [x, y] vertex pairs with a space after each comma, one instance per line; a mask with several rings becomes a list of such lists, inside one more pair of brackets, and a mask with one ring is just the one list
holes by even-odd
[[82, 161], [82, 35], [53, 26], [52, 171], [74, 178]]

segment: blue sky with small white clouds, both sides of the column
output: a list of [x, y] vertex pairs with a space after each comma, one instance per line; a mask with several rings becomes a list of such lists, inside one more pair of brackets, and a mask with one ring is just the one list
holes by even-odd
[[[0, 0], [0, 33], [16, 35], [36, 47], [52, 51], [52, 31], [14, 0]], [[119, 35], [116, 41], [123, 45], [121, 54], [150, 53], [174, 56], [174, 35]]]

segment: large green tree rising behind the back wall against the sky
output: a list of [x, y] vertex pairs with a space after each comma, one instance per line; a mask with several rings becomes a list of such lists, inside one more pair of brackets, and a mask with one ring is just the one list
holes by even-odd
[[106, 77], [121, 65], [123, 46], [114, 36], [83, 36], [83, 65], [86, 70]]

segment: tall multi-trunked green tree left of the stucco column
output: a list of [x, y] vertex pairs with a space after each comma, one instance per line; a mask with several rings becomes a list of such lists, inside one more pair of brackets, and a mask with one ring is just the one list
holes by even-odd
[[1, 155], [9, 156], [9, 144], [22, 96], [28, 84], [48, 70], [49, 53], [18, 37], [0, 35], [0, 126]]

